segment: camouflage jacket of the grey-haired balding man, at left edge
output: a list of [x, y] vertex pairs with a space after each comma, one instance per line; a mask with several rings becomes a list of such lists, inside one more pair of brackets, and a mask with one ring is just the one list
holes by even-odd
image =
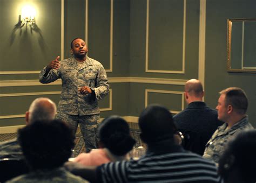
[[17, 138], [0, 143], [0, 159], [4, 158], [24, 158], [21, 146], [19, 146]]

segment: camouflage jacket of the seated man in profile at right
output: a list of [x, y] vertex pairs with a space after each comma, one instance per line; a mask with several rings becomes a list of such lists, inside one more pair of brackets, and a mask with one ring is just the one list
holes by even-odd
[[242, 118], [230, 129], [227, 129], [227, 123], [224, 123], [218, 127], [205, 145], [206, 148], [203, 157], [213, 160], [215, 163], [219, 163], [219, 158], [224, 152], [228, 141], [234, 138], [240, 131], [250, 129], [253, 129], [253, 126], [248, 121], [248, 116]]

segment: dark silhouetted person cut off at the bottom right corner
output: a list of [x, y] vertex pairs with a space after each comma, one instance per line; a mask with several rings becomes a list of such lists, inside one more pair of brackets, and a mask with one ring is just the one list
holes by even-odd
[[225, 183], [256, 182], [256, 130], [240, 132], [231, 140], [219, 160]]

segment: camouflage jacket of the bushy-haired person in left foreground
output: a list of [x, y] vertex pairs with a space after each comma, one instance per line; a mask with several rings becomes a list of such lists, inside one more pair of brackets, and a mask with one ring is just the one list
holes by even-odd
[[37, 170], [28, 174], [20, 175], [7, 182], [88, 182], [81, 177], [78, 177], [64, 168], [57, 168], [54, 170]]

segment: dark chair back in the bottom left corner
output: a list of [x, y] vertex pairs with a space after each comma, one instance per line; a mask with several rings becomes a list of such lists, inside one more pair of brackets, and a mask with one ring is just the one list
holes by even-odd
[[5, 182], [18, 175], [29, 172], [29, 168], [22, 159], [0, 159], [0, 182]]

